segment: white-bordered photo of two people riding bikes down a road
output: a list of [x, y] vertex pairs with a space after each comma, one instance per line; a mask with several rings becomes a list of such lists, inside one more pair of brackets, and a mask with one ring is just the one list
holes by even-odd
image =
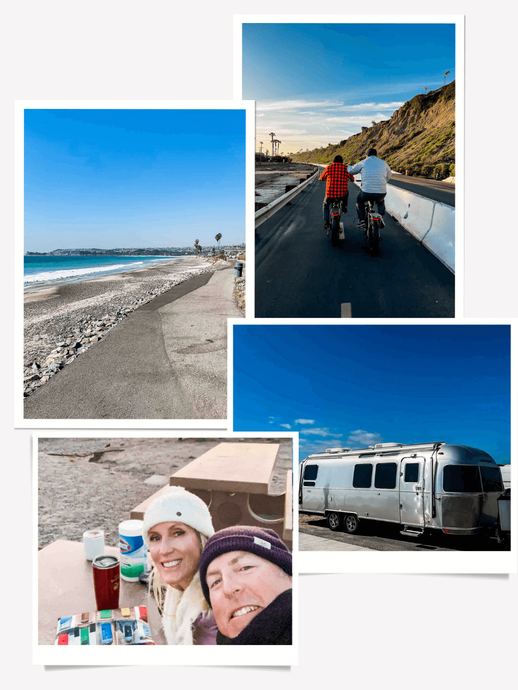
[[256, 101], [255, 316], [462, 316], [462, 19], [234, 32], [235, 94]]

